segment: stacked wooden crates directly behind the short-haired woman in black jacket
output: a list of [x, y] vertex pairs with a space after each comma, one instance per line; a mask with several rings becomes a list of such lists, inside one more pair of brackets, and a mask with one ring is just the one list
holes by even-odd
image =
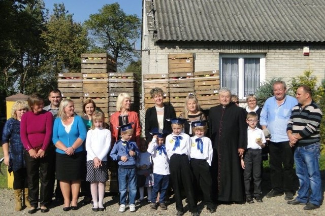
[[161, 88], [164, 91], [164, 102], [169, 102], [168, 79], [168, 74], [143, 75], [145, 112], [147, 111], [147, 109], [154, 106], [153, 98], [151, 98], [150, 95], [150, 90], [152, 88]]

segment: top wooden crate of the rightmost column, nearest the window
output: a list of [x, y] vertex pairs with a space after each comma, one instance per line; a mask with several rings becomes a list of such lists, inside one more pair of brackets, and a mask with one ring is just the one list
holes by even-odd
[[219, 70], [194, 72], [194, 90], [213, 90], [220, 88]]

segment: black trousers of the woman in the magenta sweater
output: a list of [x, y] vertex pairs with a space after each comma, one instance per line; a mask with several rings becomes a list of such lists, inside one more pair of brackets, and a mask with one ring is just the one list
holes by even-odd
[[[51, 151], [46, 151], [44, 158], [32, 158], [27, 151], [24, 152], [28, 181], [28, 199], [32, 207], [48, 206], [52, 200], [53, 188], [51, 180], [53, 176], [53, 157]], [[40, 188], [41, 182], [41, 188]], [[40, 193], [40, 199], [39, 199]]]

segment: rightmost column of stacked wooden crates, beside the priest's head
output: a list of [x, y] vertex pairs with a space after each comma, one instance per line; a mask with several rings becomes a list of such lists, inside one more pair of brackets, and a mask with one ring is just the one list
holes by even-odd
[[220, 103], [219, 89], [219, 70], [194, 72], [194, 91], [203, 110], [209, 110]]

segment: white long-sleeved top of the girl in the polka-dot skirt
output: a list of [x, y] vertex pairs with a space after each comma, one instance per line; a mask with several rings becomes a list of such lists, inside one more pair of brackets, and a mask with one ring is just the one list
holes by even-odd
[[108, 129], [88, 130], [86, 138], [87, 161], [95, 157], [107, 161], [107, 154], [111, 148], [111, 131]]

